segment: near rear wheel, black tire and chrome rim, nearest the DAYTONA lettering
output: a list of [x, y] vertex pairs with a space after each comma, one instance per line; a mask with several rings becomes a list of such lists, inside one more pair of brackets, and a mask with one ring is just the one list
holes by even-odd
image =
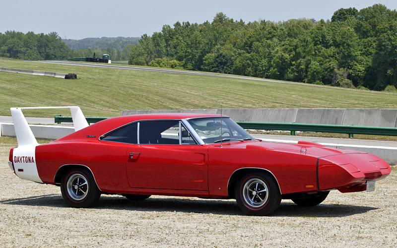
[[76, 208], [90, 207], [101, 196], [94, 177], [87, 169], [69, 170], [62, 177], [61, 192], [66, 203]]

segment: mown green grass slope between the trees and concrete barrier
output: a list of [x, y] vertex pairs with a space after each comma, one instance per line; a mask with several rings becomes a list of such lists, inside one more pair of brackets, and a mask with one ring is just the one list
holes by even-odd
[[[397, 94], [115, 68], [0, 60], [0, 66], [75, 73], [77, 80], [0, 72], [0, 115], [10, 107], [79, 106], [85, 116], [123, 110], [220, 108], [397, 108]], [[54, 111], [54, 110], [52, 110]], [[69, 116], [64, 110], [57, 113]], [[49, 117], [43, 110], [27, 117]], [[51, 116], [50, 115], [50, 116]]]

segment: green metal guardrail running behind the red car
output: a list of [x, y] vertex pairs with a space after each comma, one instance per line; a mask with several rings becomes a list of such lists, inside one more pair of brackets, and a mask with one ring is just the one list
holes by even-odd
[[[55, 116], [55, 123], [71, 123], [72, 118], [66, 116]], [[86, 117], [88, 123], [97, 123], [108, 119], [105, 117]], [[283, 130], [291, 131], [291, 135], [295, 135], [295, 131], [309, 132], [334, 132], [347, 133], [352, 138], [353, 134], [367, 135], [386, 135], [397, 136], [397, 127], [381, 127], [381, 126], [358, 126], [358, 125], [330, 125], [330, 124], [304, 124], [304, 123], [259, 123], [259, 122], [236, 122], [245, 129], [263, 129], [263, 130]]]

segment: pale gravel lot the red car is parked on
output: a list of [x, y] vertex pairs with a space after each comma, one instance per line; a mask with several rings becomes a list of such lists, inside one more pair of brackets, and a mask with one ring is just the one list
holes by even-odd
[[0, 142], [0, 247], [397, 247], [397, 166], [375, 192], [334, 190], [316, 207], [283, 200], [267, 217], [235, 200], [168, 196], [102, 195], [74, 209], [59, 187], [17, 178], [11, 146]]

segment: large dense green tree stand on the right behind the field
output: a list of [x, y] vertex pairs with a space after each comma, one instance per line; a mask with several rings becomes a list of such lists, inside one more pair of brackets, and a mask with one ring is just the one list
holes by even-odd
[[141, 36], [130, 64], [233, 73], [347, 88], [397, 87], [397, 12], [340, 8], [330, 20], [164, 25]]

